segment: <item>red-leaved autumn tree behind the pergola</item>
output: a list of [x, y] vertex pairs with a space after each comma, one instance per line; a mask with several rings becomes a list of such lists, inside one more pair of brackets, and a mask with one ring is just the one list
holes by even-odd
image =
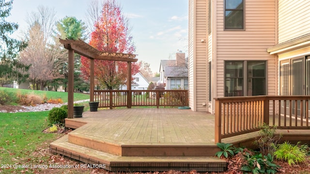
[[[129, 35], [128, 20], [121, 13], [115, 0], [107, 0], [102, 6], [101, 16], [94, 24], [90, 45], [99, 51], [132, 54], [136, 47]], [[126, 83], [127, 62], [94, 60], [94, 76], [101, 87], [117, 89]], [[90, 60], [81, 57], [81, 73], [85, 80], [90, 77]], [[139, 64], [132, 63], [132, 75], [139, 72]], [[132, 79], [129, 79], [130, 81]]]

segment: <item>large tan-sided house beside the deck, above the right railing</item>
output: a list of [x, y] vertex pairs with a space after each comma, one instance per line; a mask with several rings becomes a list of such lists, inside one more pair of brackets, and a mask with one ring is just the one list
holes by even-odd
[[189, 106], [310, 95], [309, 0], [189, 0]]

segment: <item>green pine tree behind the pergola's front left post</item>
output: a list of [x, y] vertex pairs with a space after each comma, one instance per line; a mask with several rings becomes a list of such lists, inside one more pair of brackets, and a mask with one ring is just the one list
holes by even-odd
[[[76, 17], [64, 17], [60, 21], [57, 22], [57, 38], [62, 39], [82, 39], [84, 40], [84, 33], [86, 30], [85, 23], [81, 20], [78, 20]], [[83, 84], [83, 80], [80, 78], [80, 55], [74, 54], [74, 81], [75, 84]], [[65, 90], [68, 86], [68, 58], [66, 57], [66, 61], [60, 63], [59, 73], [61, 74], [61, 78], [57, 78], [53, 80], [53, 86], [57, 87], [62, 85]], [[75, 85], [75, 88], [80, 88], [79, 85]]]

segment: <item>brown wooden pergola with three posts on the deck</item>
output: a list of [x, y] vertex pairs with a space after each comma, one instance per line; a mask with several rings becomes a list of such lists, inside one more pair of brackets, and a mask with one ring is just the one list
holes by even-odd
[[[134, 54], [101, 52], [93, 46], [82, 40], [59, 40], [64, 48], [68, 49], [68, 118], [73, 118], [73, 95], [74, 95], [74, 53], [89, 58], [90, 62], [90, 101], [93, 102], [94, 95], [94, 59], [126, 61], [127, 62], [127, 90], [131, 94], [131, 62], [137, 62]], [[131, 101], [131, 95], [128, 95], [128, 101]], [[129, 106], [130, 107], [130, 106]]]

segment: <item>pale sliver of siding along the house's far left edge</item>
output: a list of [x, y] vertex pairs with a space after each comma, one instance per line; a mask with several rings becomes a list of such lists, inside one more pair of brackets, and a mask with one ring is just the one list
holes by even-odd
[[189, 107], [196, 111], [194, 101], [194, 3], [195, 0], [189, 0], [188, 3], [188, 95]]

